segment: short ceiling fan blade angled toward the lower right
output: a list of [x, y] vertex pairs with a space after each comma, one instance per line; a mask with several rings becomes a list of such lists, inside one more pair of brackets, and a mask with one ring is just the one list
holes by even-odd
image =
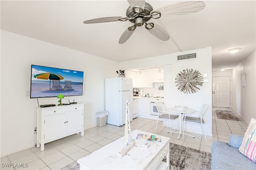
[[157, 25], [156, 23], [154, 23], [154, 27], [152, 27], [151, 29], [148, 29], [146, 27], [146, 30], [148, 30], [148, 32], [154, 35], [154, 37], [162, 41], [167, 41], [168, 39], [170, 39], [168, 32], [163, 27], [161, 27], [160, 25]]

